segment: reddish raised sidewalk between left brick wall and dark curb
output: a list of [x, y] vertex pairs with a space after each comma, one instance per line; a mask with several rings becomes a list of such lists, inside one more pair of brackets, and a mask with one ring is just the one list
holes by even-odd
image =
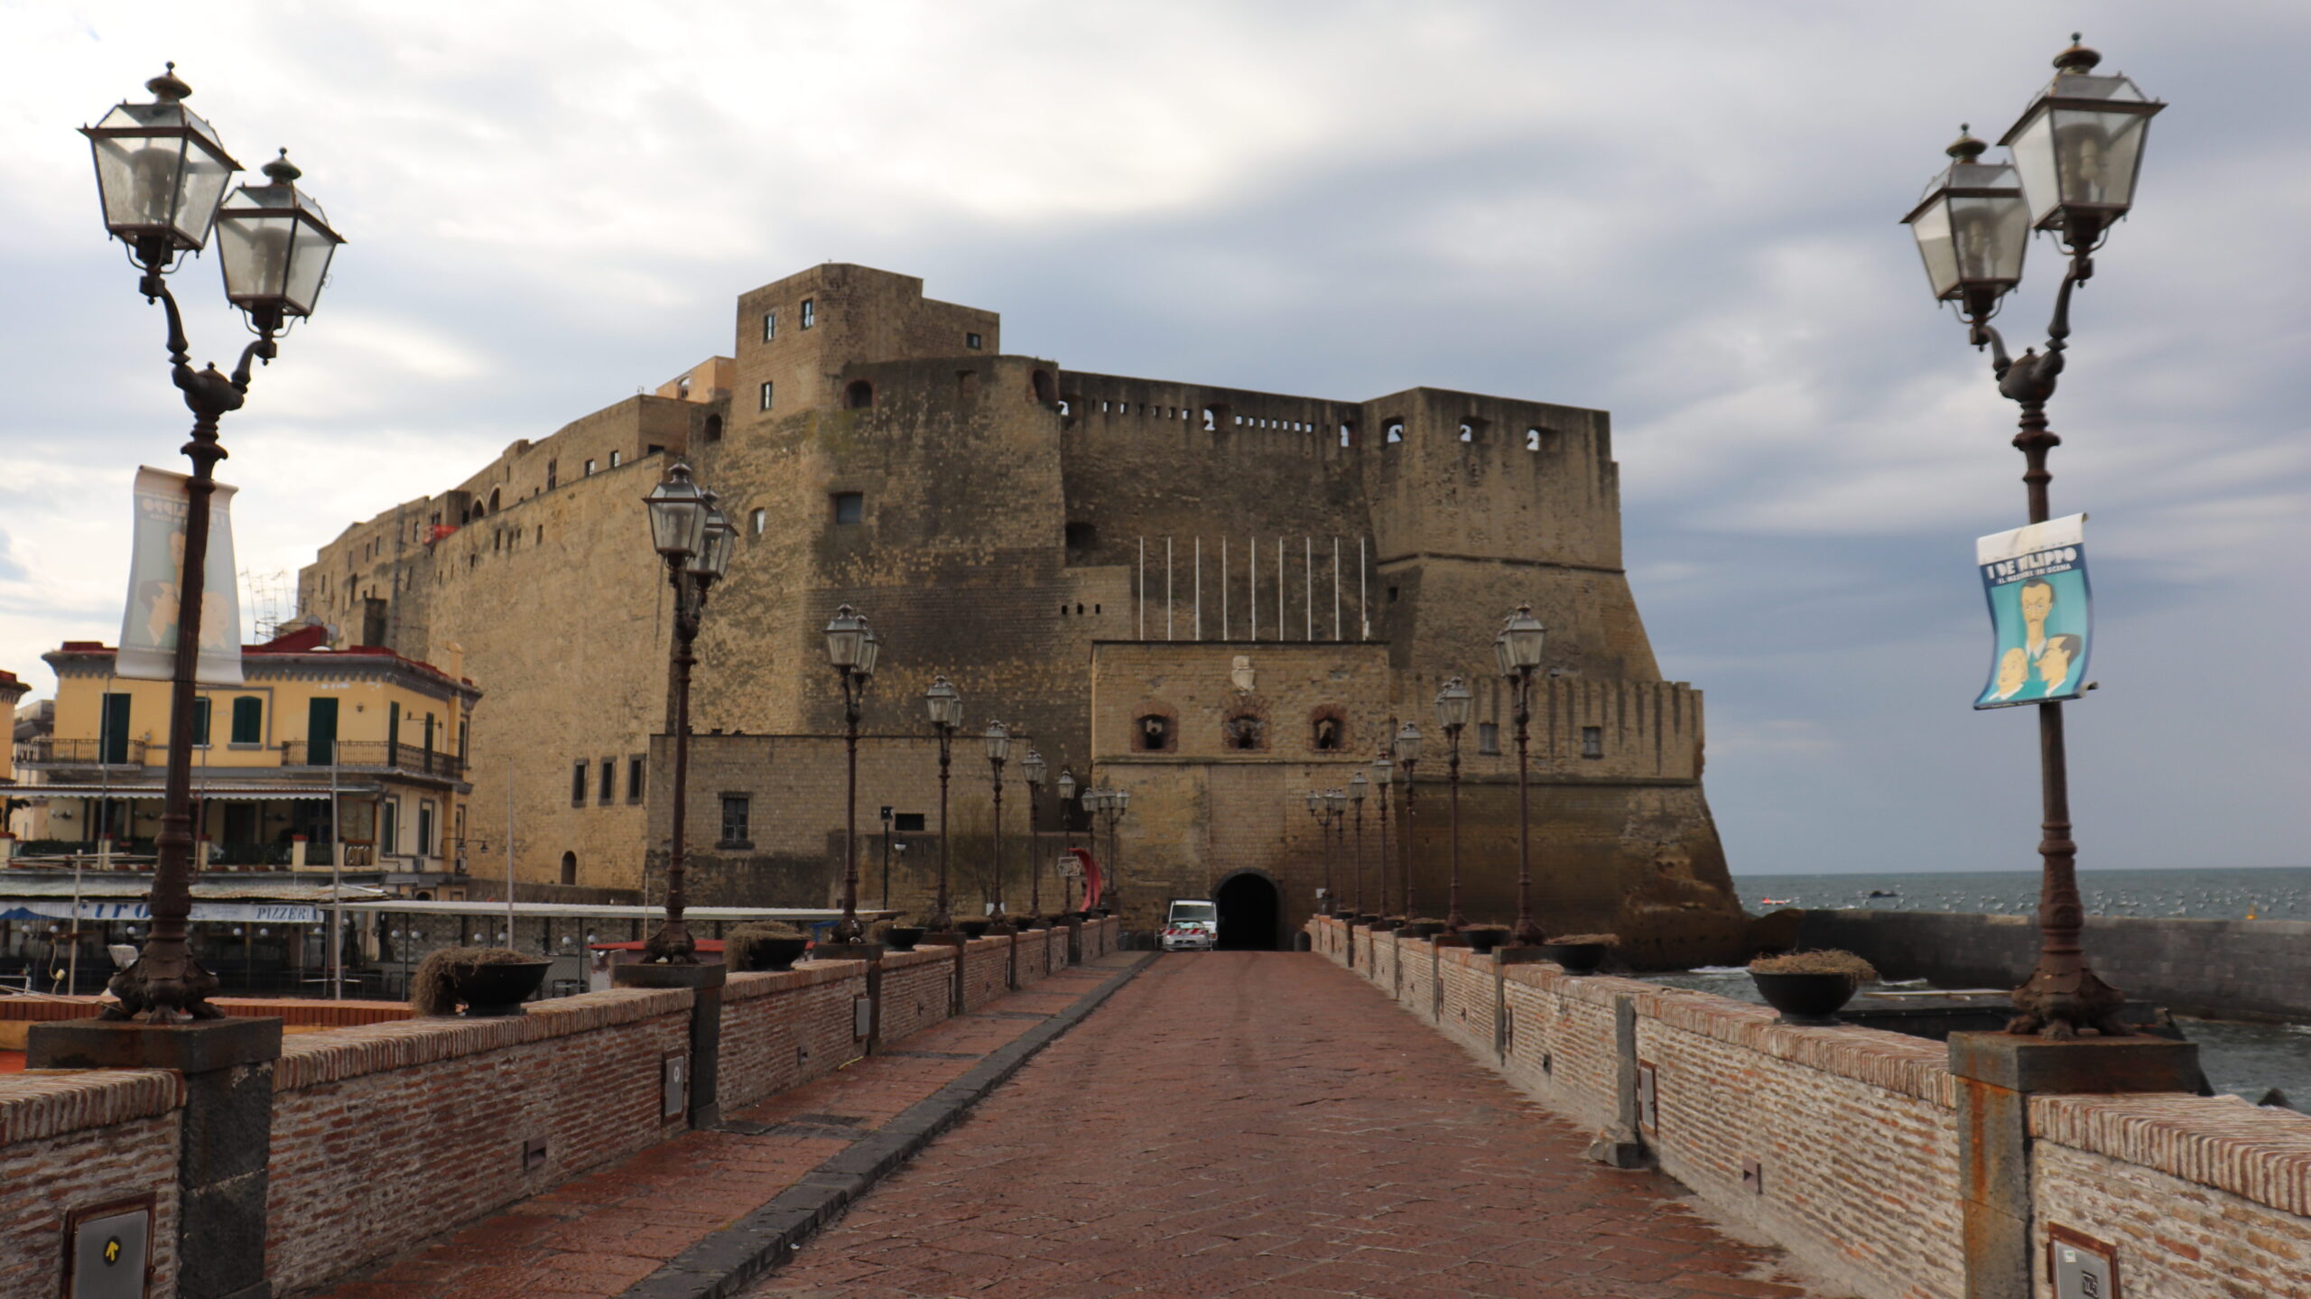
[[[1075, 1005], [1135, 955], [1058, 971], [887, 1054], [723, 1114], [737, 1130], [684, 1133], [425, 1241], [324, 1299], [610, 1299], [797, 1186], [906, 1107]], [[1065, 1040], [1065, 1038], [1061, 1038]]]

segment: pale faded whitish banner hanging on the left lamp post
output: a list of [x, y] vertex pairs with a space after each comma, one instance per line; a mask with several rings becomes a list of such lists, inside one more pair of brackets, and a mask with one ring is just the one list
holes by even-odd
[[[192, 478], [136, 469], [136, 536], [129, 543], [129, 603], [120, 617], [122, 677], [166, 682], [176, 675], [176, 629], [185, 576], [185, 520]], [[233, 576], [233, 488], [208, 497], [208, 562], [201, 566], [201, 656], [194, 680], [240, 684], [240, 585]]]

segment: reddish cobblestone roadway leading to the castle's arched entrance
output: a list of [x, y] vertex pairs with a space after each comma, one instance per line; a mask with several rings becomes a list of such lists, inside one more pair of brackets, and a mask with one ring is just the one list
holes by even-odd
[[1315, 955], [1160, 957], [753, 1299], [1803, 1297]]

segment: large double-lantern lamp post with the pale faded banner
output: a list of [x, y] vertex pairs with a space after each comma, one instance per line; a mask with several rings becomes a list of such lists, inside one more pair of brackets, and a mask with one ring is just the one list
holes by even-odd
[[[250, 370], [270, 363], [275, 337], [312, 314], [328, 261], [344, 243], [328, 227], [321, 206], [296, 187], [289, 153], [263, 166], [266, 185], [243, 185], [224, 196], [240, 164], [224, 153], [215, 127], [185, 109], [192, 86], [169, 72], [146, 81], [150, 104], [116, 104], [95, 127], [81, 127], [97, 164], [104, 229], [129, 245], [141, 268], [136, 291], [159, 303], [169, 324], [171, 379], [192, 411], [192, 460], [185, 483], [185, 557], [178, 571], [176, 659], [169, 675], [169, 774], [157, 860], [153, 864], [153, 929], [143, 952], [106, 985], [120, 1001], [99, 1010], [102, 1019], [146, 1017], [157, 1024], [222, 1019], [208, 1003], [217, 975], [203, 968], [185, 943], [192, 915], [192, 703], [201, 654], [201, 603], [208, 569], [210, 497], [215, 495], [217, 423], [238, 411], [250, 393]], [[192, 368], [192, 342], [166, 275], [183, 252], [201, 252], [217, 231], [224, 298], [240, 307], [257, 335], [240, 351], [231, 374], [215, 365]], [[236, 636], [236, 629], [217, 629]]]

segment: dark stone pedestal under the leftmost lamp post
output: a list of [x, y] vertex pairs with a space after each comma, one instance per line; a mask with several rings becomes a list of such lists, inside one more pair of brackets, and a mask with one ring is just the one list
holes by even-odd
[[164, 1068], [185, 1079], [176, 1158], [180, 1299], [268, 1299], [266, 1160], [280, 1019], [32, 1024], [25, 1068]]

